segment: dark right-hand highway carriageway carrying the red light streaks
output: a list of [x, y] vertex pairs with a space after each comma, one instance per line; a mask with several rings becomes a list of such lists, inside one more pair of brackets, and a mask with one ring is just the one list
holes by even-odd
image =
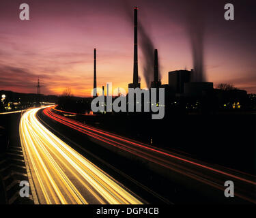
[[117, 136], [108, 131], [103, 131], [102, 129], [85, 125], [79, 121], [74, 121], [66, 116], [61, 116], [54, 112], [54, 108], [46, 108], [43, 113], [54, 121], [76, 129], [86, 134], [94, 141], [96, 140], [103, 143], [104, 146], [109, 147], [109, 149], [114, 149], [113, 151], [119, 150], [133, 157], [144, 159], [147, 162], [153, 163], [159, 170], [167, 170], [162, 171], [167, 174], [169, 172], [180, 174], [185, 178], [185, 183], [187, 183], [188, 186], [195, 185], [199, 189], [205, 189], [205, 191], [210, 190], [211, 193], [218, 194], [220, 198], [224, 196], [225, 181], [233, 181], [236, 187], [237, 198], [245, 202], [256, 203], [256, 177], [251, 174], [205, 163], [185, 157], [184, 155], [178, 155], [148, 144]]

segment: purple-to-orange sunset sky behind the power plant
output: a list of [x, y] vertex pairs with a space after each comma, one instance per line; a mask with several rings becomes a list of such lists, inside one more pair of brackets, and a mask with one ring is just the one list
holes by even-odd
[[[204, 24], [204, 65], [208, 81], [229, 82], [256, 93], [256, 3], [228, 1], [235, 20], [224, 19], [227, 1], [33, 0], [0, 1], [0, 90], [43, 94], [72, 89], [89, 96], [93, 57], [97, 48], [98, 87], [112, 82], [128, 88], [132, 82], [133, 27], [129, 16], [139, 7], [139, 20], [158, 48], [162, 83], [168, 72], [193, 68], [188, 25]], [[30, 7], [30, 20], [19, 19], [19, 5]], [[197, 7], [199, 5], [200, 7]], [[200, 8], [200, 9], [199, 9]], [[198, 16], [199, 14], [199, 16]], [[201, 23], [201, 22], [200, 22]], [[139, 76], [145, 87], [139, 40]]]

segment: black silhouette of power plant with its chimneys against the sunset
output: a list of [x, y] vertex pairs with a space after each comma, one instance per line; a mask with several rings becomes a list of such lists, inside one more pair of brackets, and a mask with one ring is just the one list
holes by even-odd
[[[200, 53], [201, 54], [201, 53]], [[165, 89], [165, 110], [166, 112], [206, 112], [212, 113], [219, 109], [220, 104], [226, 108], [240, 108], [241, 104], [246, 108], [247, 93], [244, 90], [229, 89], [221, 90], [214, 89], [213, 82], [205, 82], [203, 78], [203, 63], [199, 63], [199, 66], [194, 66], [198, 72], [194, 69], [180, 69], [169, 72], [168, 84], [162, 84], [159, 78], [158, 72], [158, 50], [154, 49], [154, 74], [153, 81], [150, 83], [149, 89], [164, 88]], [[195, 54], [194, 54], [195, 55]], [[151, 58], [150, 58], [151, 59]], [[203, 57], [195, 59], [203, 59]], [[151, 72], [148, 72], [152, 75]], [[96, 48], [94, 48], [94, 91], [93, 97], [97, 95], [97, 82], [96, 82]], [[134, 7], [134, 60], [133, 60], [133, 79], [132, 83], [128, 84], [128, 89], [141, 89], [141, 83], [139, 81], [138, 70], [138, 7]], [[104, 95], [104, 87], [100, 95]], [[121, 95], [121, 94], [119, 94]], [[157, 95], [158, 96], [158, 95]], [[115, 97], [114, 97], [115, 98]], [[142, 94], [143, 98], [143, 94]], [[150, 102], [147, 102], [150, 104]], [[157, 102], [158, 104], [159, 102]], [[104, 102], [102, 104], [105, 104]], [[129, 104], [127, 100], [127, 104]], [[234, 105], [235, 104], [235, 105]], [[134, 105], [136, 105], [134, 99]], [[158, 105], [159, 107], [161, 105]], [[101, 113], [106, 110], [99, 111]]]

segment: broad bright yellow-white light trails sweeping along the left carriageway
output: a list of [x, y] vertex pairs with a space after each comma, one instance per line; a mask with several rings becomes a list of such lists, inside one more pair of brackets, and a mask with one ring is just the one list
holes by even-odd
[[36, 118], [20, 119], [20, 141], [40, 204], [142, 204], [114, 178], [48, 131]]

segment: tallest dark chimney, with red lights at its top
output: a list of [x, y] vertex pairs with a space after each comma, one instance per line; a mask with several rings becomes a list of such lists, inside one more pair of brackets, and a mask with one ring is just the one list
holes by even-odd
[[134, 64], [133, 64], [133, 86], [139, 86], [138, 76], [138, 7], [134, 7]]

